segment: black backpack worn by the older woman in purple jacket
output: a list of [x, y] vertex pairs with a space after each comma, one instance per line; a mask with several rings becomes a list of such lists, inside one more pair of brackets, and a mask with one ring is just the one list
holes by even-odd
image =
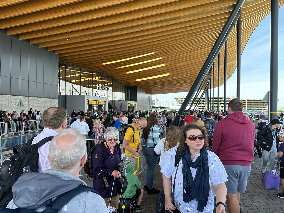
[[[90, 178], [96, 178], [93, 172], [93, 159], [92, 159], [92, 155], [94, 153], [94, 151], [98, 148], [98, 146], [101, 147], [101, 150], [103, 151], [103, 161], [105, 160], [105, 155], [106, 155], [106, 149], [105, 149], [105, 144], [104, 143], [98, 143], [96, 145], [94, 145], [90, 151], [87, 154], [87, 160], [86, 163], [84, 165], [84, 171], [86, 174], [88, 174], [88, 177]], [[117, 147], [117, 152], [121, 154], [121, 150], [120, 150], [120, 146], [118, 143], [116, 143], [116, 147]]]

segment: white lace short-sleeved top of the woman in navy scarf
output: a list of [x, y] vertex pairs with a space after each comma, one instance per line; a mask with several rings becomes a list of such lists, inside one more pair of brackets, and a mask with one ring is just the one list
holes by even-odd
[[[172, 189], [174, 184], [174, 174], [176, 172], [176, 167], [174, 166], [174, 158], [176, 154], [177, 147], [173, 147], [168, 150], [164, 157], [159, 162], [161, 166], [161, 172], [168, 178], [172, 178]], [[193, 159], [193, 162], [196, 161], [197, 157], [200, 156], [200, 153], [196, 155]], [[225, 183], [227, 181], [227, 173], [220, 159], [214, 152], [208, 151], [208, 164], [209, 164], [209, 176], [210, 176], [210, 186], [216, 186], [220, 183]], [[176, 201], [177, 208], [181, 213], [200, 213], [201, 211], [197, 210], [197, 201], [194, 199], [190, 203], [183, 202], [183, 174], [182, 174], [182, 159], [179, 162], [179, 169], [176, 173], [176, 183], [175, 183], [175, 192], [174, 192], [174, 201]], [[196, 174], [196, 169], [190, 168], [192, 177], [194, 179]], [[204, 207], [204, 213], [212, 213], [214, 209], [214, 196], [210, 188], [209, 197], [206, 207]]]

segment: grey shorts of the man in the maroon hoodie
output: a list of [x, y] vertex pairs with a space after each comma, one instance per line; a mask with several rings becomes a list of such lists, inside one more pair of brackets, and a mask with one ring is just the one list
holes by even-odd
[[250, 175], [250, 166], [224, 165], [228, 175], [228, 181], [225, 182], [227, 193], [245, 193], [247, 187], [247, 178]]

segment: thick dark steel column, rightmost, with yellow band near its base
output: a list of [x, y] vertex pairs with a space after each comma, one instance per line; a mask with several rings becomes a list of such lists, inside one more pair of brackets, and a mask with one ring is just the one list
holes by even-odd
[[[277, 118], [279, 0], [271, 0], [270, 121]], [[269, 122], [270, 122], [269, 121]]]

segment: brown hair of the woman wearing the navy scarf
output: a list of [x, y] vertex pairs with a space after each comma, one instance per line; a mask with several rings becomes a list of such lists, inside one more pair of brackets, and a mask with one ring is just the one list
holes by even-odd
[[204, 135], [204, 145], [205, 147], [209, 147], [208, 143], [207, 143], [207, 139], [208, 139], [208, 134], [207, 131], [205, 129], [205, 127], [197, 124], [197, 123], [190, 123], [187, 124], [182, 130], [181, 133], [179, 134], [179, 150], [181, 152], [184, 152], [186, 149], [189, 149], [188, 145], [185, 143], [186, 137], [187, 137], [187, 131], [189, 130], [200, 130], [201, 134]]

